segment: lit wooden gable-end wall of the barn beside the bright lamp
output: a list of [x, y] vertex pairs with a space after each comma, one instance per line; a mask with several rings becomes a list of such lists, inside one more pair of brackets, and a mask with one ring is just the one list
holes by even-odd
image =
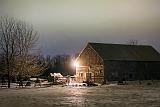
[[90, 45], [82, 51], [77, 58], [79, 67], [76, 68], [77, 81], [93, 81], [95, 83], [101, 83], [104, 79], [103, 60], [92, 49]]

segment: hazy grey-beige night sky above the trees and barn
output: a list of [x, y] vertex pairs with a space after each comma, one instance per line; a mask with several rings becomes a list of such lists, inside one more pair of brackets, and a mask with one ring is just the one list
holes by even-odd
[[0, 0], [0, 16], [32, 24], [45, 55], [131, 39], [160, 52], [160, 0]]

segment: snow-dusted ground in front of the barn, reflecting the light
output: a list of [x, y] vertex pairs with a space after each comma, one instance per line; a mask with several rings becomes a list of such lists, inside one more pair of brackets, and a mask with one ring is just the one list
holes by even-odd
[[160, 107], [160, 86], [0, 89], [0, 107]]

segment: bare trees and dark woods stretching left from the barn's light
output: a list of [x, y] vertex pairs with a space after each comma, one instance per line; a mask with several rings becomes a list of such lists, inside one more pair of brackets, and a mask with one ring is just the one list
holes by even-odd
[[13, 77], [46, 76], [51, 72], [73, 74], [69, 55], [44, 57], [38, 48], [39, 34], [23, 20], [0, 18], [0, 78], [7, 79], [8, 88]]

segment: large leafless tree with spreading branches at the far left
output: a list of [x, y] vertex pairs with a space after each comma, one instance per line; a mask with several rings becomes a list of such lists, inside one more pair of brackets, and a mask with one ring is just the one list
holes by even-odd
[[36, 67], [31, 67], [37, 64], [35, 63], [36, 58], [31, 57], [37, 40], [38, 34], [32, 26], [13, 17], [1, 17], [0, 52], [6, 65], [8, 88], [10, 88], [11, 73], [25, 75], [25, 72], [29, 73], [30, 71], [31, 73], [29, 69], [32, 69], [32, 71], [39, 70], [34, 69]]

